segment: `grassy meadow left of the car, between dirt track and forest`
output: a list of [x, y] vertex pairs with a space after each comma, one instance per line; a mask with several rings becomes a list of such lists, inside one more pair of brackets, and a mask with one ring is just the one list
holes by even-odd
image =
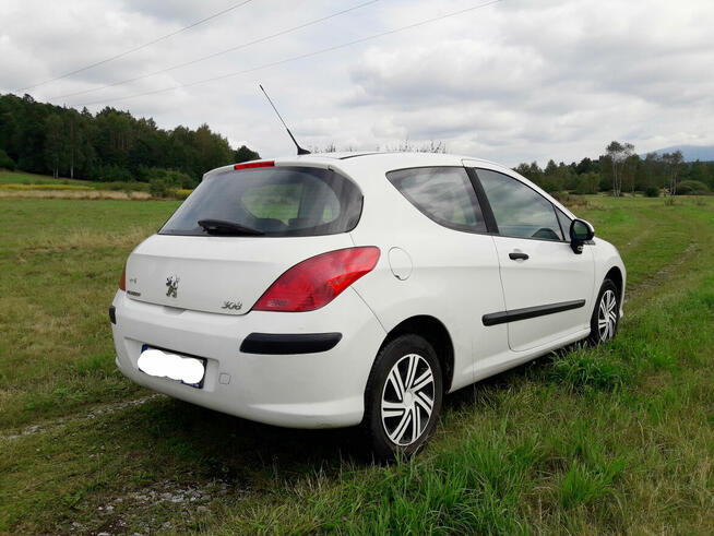
[[127, 255], [177, 205], [0, 199], [0, 427], [138, 392], [105, 317]]

